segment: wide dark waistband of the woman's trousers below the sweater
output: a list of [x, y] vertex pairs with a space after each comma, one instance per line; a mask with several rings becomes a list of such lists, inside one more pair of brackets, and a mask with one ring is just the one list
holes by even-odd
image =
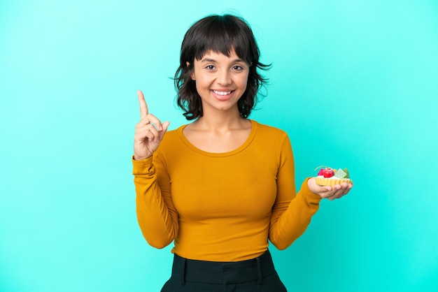
[[269, 251], [247, 261], [215, 262], [195, 261], [174, 254], [172, 277], [184, 284], [201, 282], [210, 284], [239, 284], [257, 281], [262, 284], [263, 277], [275, 272]]

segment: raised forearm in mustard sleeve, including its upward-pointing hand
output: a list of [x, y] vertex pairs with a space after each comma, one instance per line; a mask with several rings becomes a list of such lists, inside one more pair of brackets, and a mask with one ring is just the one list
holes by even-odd
[[136, 213], [144, 238], [151, 246], [162, 248], [178, 233], [178, 214], [171, 200], [169, 175], [160, 156], [153, 155], [169, 122], [161, 123], [151, 115], [143, 93], [139, 91], [137, 94], [141, 121], [136, 124], [132, 159]]

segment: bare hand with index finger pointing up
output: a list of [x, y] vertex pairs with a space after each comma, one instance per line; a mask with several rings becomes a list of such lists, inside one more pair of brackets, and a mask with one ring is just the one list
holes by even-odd
[[135, 127], [134, 160], [147, 159], [155, 152], [169, 127], [169, 122], [161, 123], [148, 111], [148, 105], [140, 90], [137, 92], [140, 103], [141, 120]]

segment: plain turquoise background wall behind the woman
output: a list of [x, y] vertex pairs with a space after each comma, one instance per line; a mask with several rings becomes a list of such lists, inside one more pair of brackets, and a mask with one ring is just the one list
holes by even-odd
[[0, 1], [0, 291], [159, 291], [170, 247], [136, 223], [136, 90], [185, 123], [171, 77], [190, 24], [234, 12], [272, 63], [252, 119], [288, 131], [297, 187], [351, 194], [271, 249], [290, 291], [437, 291], [438, 3]]

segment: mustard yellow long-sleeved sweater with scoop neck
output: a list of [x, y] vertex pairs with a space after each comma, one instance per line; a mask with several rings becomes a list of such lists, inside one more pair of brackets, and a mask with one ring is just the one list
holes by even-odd
[[153, 247], [202, 261], [243, 261], [268, 239], [285, 249], [306, 230], [320, 196], [295, 191], [284, 131], [251, 120], [246, 142], [226, 153], [197, 149], [183, 128], [164, 135], [152, 157], [132, 161], [139, 226]]

